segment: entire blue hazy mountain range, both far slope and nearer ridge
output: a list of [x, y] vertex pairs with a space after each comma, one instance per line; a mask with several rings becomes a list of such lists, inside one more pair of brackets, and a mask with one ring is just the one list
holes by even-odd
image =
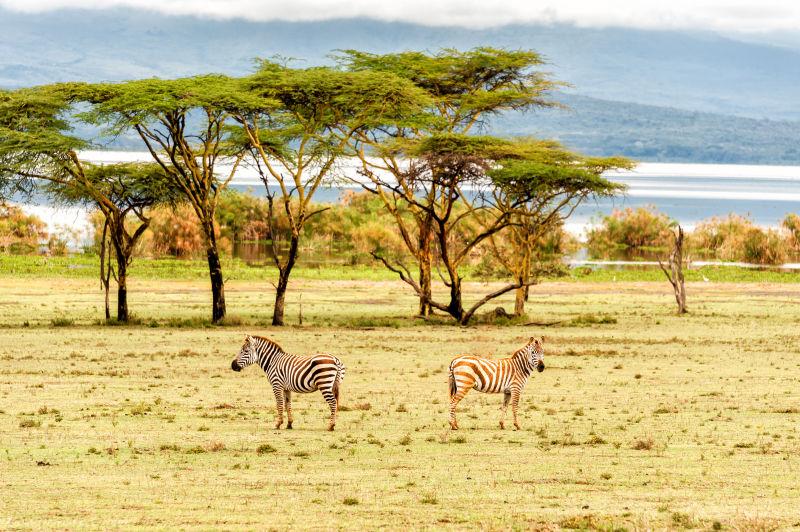
[[[517, 25], [475, 30], [366, 19], [246, 22], [145, 11], [0, 9], [0, 87], [251, 71], [255, 57], [331, 63], [372, 52], [497, 46], [544, 54], [572, 112], [509, 115], [497, 134], [540, 134], [646, 160], [799, 163], [800, 48], [700, 32]], [[794, 42], [794, 34], [776, 42]], [[800, 41], [798, 41], [800, 42]], [[733, 116], [725, 116], [733, 115]]]

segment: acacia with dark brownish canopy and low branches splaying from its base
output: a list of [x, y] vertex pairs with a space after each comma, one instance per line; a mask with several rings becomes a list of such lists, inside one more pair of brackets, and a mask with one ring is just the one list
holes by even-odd
[[[513, 225], [520, 216], [525, 216], [537, 195], [553, 186], [553, 183], [542, 183], [536, 174], [512, 175], [508, 171], [498, 171], [515, 164], [526, 164], [530, 169], [529, 165], [541, 157], [539, 143], [447, 134], [399, 142], [392, 149], [398, 159], [411, 161], [404, 176], [405, 182], [415, 189], [438, 190], [432, 202], [416, 195], [408, 201], [433, 221], [439, 263], [444, 270], [440, 276], [449, 289], [449, 300], [436, 301], [425, 294], [409, 268], [401, 262], [375, 255], [376, 258], [398, 273], [431, 307], [446, 312], [464, 325], [487, 302], [524, 287], [524, 281], [514, 279], [511, 284], [486, 294], [465, 308], [461, 268], [478, 246]], [[574, 172], [565, 169], [562, 178], [567, 176], [576, 178]], [[396, 191], [402, 185], [384, 180], [380, 186]]]

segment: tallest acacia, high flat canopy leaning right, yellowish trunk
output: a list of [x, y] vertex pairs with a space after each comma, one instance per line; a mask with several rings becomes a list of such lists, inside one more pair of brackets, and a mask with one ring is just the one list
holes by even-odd
[[[435, 54], [403, 52], [376, 55], [346, 50], [339, 62], [353, 71], [390, 72], [412, 81], [431, 98], [425, 116], [392, 127], [359, 132], [353, 143], [354, 154], [367, 179], [365, 189], [381, 198], [394, 216], [403, 241], [418, 264], [419, 313], [431, 311], [431, 266], [436, 221], [436, 204], [446, 201], [446, 187], [436, 180], [420, 187], [409, 180], [414, 172], [398, 159], [398, 152], [384, 149], [387, 143], [421, 140], [436, 134], [467, 134], [480, 128], [487, 119], [508, 110], [530, 110], [555, 105], [548, 93], [559, 84], [536, 70], [542, 57], [529, 50], [475, 48], [469, 51], [441, 50]], [[408, 156], [408, 153], [404, 153]], [[385, 186], [386, 175], [396, 186]], [[411, 222], [405, 213], [410, 212]], [[379, 258], [382, 256], [379, 255]]]

